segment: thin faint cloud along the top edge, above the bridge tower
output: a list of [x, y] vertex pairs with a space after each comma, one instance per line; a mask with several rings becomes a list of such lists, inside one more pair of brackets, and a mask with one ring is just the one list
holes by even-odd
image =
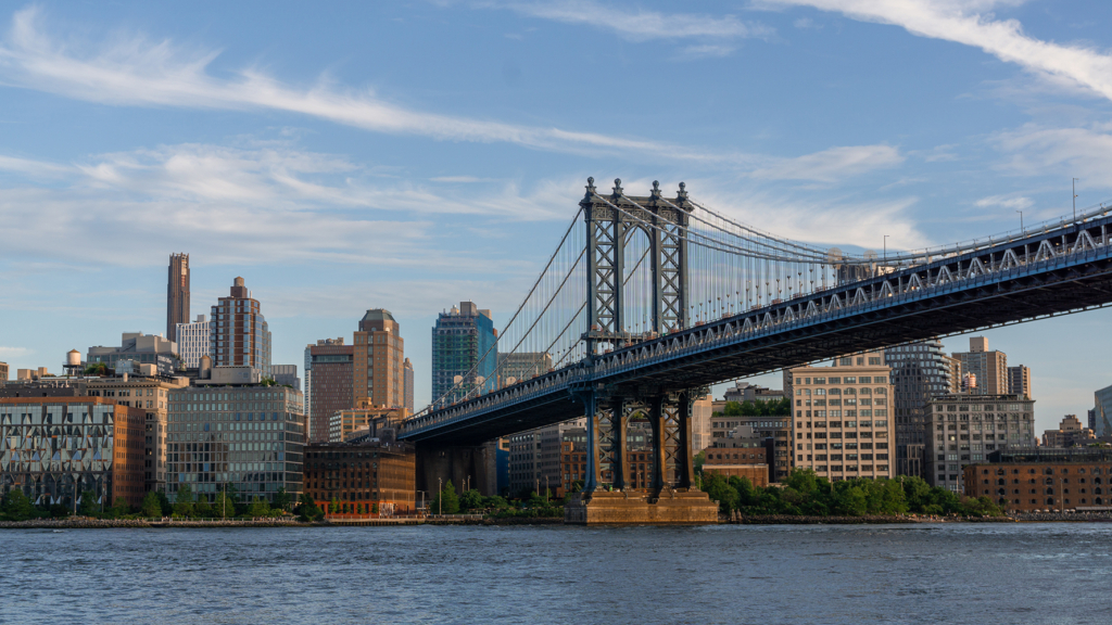
[[479, 2], [479, 8], [509, 9], [515, 12], [570, 24], [610, 30], [632, 41], [686, 38], [767, 37], [772, 29], [743, 22], [734, 16], [712, 17], [693, 13], [661, 13], [641, 9], [618, 9], [590, 0], [558, 2]]

